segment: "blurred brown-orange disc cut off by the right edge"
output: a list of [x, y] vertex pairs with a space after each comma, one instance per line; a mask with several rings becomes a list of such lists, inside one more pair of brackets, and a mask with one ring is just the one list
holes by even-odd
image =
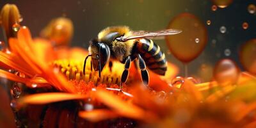
[[248, 72], [256, 74], [256, 39], [247, 41], [240, 48], [239, 59]]

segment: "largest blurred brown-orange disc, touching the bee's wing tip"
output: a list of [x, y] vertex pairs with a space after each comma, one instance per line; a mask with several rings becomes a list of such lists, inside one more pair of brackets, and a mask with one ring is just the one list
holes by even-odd
[[168, 28], [180, 29], [182, 33], [166, 37], [172, 54], [183, 63], [194, 60], [207, 44], [207, 30], [195, 15], [182, 13], [172, 19]]

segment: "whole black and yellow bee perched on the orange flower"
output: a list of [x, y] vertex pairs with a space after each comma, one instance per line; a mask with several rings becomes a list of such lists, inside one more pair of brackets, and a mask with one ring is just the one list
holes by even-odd
[[[112, 26], [103, 29], [97, 38], [90, 41], [89, 55], [84, 60], [83, 74], [86, 60], [91, 57], [92, 67], [100, 72], [109, 60], [118, 60], [124, 63], [121, 85], [127, 81], [131, 61], [138, 59], [143, 84], [148, 85], [147, 68], [156, 74], [164, 76], [167, 70], [167, 61], [159, 45], [150, 38], [161, 38], [181, 33], [179, 29], [164, 29], [162, 31], [132, 31], [127, 26]], [[110, 63], [111, 64], [111, 63]], [[146, 68], [147, 65], [147, 68]]]

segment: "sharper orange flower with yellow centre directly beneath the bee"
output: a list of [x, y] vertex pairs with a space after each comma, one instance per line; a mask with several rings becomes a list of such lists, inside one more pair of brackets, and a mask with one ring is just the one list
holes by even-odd
[[[93, 98], [111, 108], [81, 111], [79, 113], [83, 118], [93, 122], [117, 116], [134, 118], [145, 122], [157, 119], [156, 114], [152, 113], [152, 111], [147, 111], [132, 103], [134, 96], [131, 93], [127, 93], [132, 92], [130, 87], [124, 86], [123, 90], [119, 89], [116, 83], [120, 83], [119, 78], [122, 72], [118, 68], [120, 65], [122, 66], [121, 63], [115, 62], [113, 64], [113, 73], [111, 74], [108, 73], [108, 68], [104, 69], [102, 71], [103, 77], [99, 79], [96, 75], [97, 73], [89, 69], [86, 72], [90, 76], [88, 74], [83, 76], [81, 67], [83, 66], [84, 56], [88, 54], [83, 49], [70, 49], [68, 47], [54, 49], [51, 42], [47, 40], [40, 38], [33, 40], [29, 29], [26, 27], [20, 28], [17, 38], [10, 38], [9, 43], [11, 52], [0, 52], [0, 65], [4, 68], [15, 69], [20, 74], [24, 74], [25, 77], [0, 70], [1, 77], [25, 83], [29, 88], [52, 86], [58, 90], [58, 93], [39, 93], [22, 97], [19, 99], [20, 104], [48, 104], [63, 100]], [[169, 70], [172, 70], [172, 72], [168, 72], [165, 77], [159, 77], [150, 72], [150, 87], [157, 90], [172, 90], [172, 87], [163, 79], [171, 79], [177, 70], [173, 65], [169, 66]], [[127, 83], [134, 84], [141, 81], [136, 78], [137, 76], [139, 74], [136, 68], [131, 68], [130, 80]], [[96, 83], [98, 83], [98, 86], [95, 86]], [[144, 90], [140, 91], [136, 93], [143, 93]], [[119, 97], [116, 97], [116, 94]], [[138, 97], [140, 96], [138, 95]], [[146, 97], [148, 99], [148, 96]], [[148, 116], [147, 119], [145, 115]]]

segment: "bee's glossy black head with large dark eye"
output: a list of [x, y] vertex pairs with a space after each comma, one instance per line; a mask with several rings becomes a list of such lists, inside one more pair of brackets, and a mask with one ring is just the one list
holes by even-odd
[[110, 58], [110, 49], [108, 45], [99, 42], [98, 40], [92, 40], [90, 42], [89, 51], [92, 55], [93, 69], [101, 72]]

